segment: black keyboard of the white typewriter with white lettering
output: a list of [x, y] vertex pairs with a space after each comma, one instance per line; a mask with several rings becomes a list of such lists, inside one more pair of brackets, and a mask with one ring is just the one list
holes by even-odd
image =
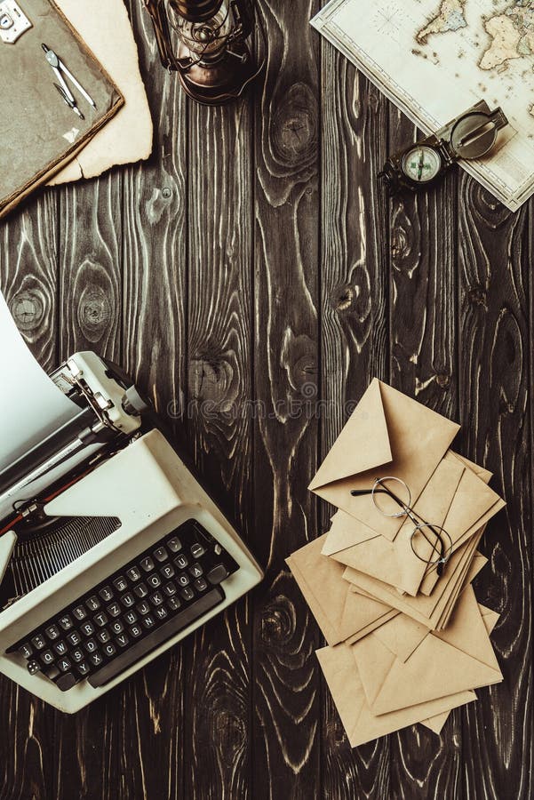
[[20, 652], [67, 692], [87, 679], [104, 686], [225, 599], [220, 583], [238, 564], [195, 520], [32, 630]]

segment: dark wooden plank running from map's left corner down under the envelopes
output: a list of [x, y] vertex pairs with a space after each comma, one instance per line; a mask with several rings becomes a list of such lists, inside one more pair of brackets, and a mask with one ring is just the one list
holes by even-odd
[[[387, 378], [387, 101], [331, 44], [322, 56], [321, 459], [375, 376]], [[320, 503], [320, 533], [331, 507]], [[323, 796], [387, 796], [389, 743], [351, 749], [323, 691]]]

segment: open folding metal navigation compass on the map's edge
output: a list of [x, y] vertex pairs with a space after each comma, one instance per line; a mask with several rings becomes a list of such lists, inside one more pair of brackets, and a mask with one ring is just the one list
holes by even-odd
[[439, 131], [387, 159], [379, 173], [390, 194], [403, 188], [417, 191], [439, 180], [458, 159], [482, 158], [497, 141], [498, 131], [508, 124], [500, 108], [490, 111], [481, 100], [455, 117]]

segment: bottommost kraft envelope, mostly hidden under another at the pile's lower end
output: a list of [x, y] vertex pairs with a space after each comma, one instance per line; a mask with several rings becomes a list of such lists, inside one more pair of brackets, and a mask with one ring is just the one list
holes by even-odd
[[338, 644], [315, 655], [353, 748], [475, 700], [474, 692], [460, 692], [378, 716], [369, 708], [352, 651], [353, 646]]

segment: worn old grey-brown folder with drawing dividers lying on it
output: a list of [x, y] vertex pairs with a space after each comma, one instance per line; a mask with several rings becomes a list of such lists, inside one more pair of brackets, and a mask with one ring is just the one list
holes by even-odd
[[[52, 0], [18, 0], [32, 28], [14, 44], [0, 40], [0, 219], [71, 161], [124, 105], [124, 97]], [[92, 97], [68, 81], [84, 119], [54, 86], [42, 44], [58, 54]]]

